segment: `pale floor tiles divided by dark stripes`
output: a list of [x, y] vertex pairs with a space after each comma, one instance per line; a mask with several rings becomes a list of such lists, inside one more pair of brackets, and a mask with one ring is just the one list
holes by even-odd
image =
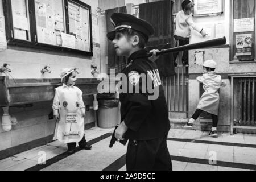
[[[85, 131], [85, 137], [86, 140], [89, 141], [101, 137], [104, 134], [112, 133], [113, 130], [114, 129], [100, 129], [94, 127]], [[168, 150], [171, 156], [175, 156], [175, 159], [172, 161], [172, 166], [175, 171], [237, 171], [245, 170], [246, 167], [243, 168], [242, 165], [240, 165], [241, 168], [234, 168], [232, 165], [227, 165], [232, 163], [256, 165], [256, 147], [237, 146], [238, 143], [256, 145], [256, 135], [238, 134], [230, 136], [228, 133], [220, 133], [218, 138], [210, 138], [208, 137], [208, 133], [203, 131], [171, 129], [168, 138], [170, 138], [170, 140], [167, 141]], [[174, 139], [179, 140], [175, 141]], [[102, 139], [93, 144], [92, 150], [81, 150], [76, 152], [76, 154], [61, 159], [42, 169], [102, 170], [126, 153], [126, 147], [123, 147], [119, 143], [115, 144], [114, 148], [109, 149], [109, 140], [110, 137]], [[232, 143], [236, 145], [233, 146]], [[48, 160], [63, 154], [65, 151], [67, 151], [66, 144], [54, 141], [44, 146], [16, 154], [10, 158], [0, 160], [0, 170], [26, 170], [42, 162], [42, 154], [46, 154], [46, 160]], [[216, 157], [217, 161], [227, 163], [225, 164], [226, 166], [217, 166], [218, 163], [217, 165], [205, 163], [212, 159], [213, 155]], [[192, 159], [192, 161], [184, 162], [187, 159]], [[198, 160], [200, 160], [200, 162], [197, 162]], [[117, 170], [125, 171], [125, 164]]]

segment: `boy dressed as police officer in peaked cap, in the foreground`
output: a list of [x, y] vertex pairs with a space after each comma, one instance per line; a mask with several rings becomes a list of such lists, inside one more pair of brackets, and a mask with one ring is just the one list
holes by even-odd
[[[108, 39], [113, 42], [117, 55], [126, 56], [129, 61], [122, 71], [126, 80], [122, 80], [121, 87], [139, 85], [139, 93], [119, 93], [122, 122], [115, 130], [115, 138], [129, 139], [127, 171], [172, 170], [167, 148], [170, 121], [162, 81], [156, 64], [148, 59], [144, 49], [154, 29], [151, 24], [130, 14], [114, 13], [111, 19], [115, 29], [107, 34]], [[151, 59], [156, 59], [155, 52]], [[147, 78], [142, 78], [142, 74]], [[158, 92], [158, 97], [150, 99], [152, 93], [142, 92], [143, 80]]]

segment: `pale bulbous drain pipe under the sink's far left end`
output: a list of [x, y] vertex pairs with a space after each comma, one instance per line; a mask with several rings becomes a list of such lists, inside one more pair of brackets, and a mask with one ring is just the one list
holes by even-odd
[[15, 117], [11, 117], [9, 114], [9, 107], [2, 107], [3, 116], [2, 116], [2, 128], [3, 131], [11, 131], [13, 125], [16, 125], [17, 119]]

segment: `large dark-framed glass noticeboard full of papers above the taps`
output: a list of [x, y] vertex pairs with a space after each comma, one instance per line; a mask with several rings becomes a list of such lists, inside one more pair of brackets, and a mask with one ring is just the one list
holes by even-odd
[[91, 7], [72, 0], [3, 0], [7, 43], [93, 56]]

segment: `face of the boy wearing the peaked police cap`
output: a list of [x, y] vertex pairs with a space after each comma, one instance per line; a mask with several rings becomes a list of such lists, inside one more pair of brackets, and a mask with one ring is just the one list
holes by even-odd
[[115, 52], [118, 56], [129, 57], [131, 50], [133, 49], [133, 40], [128, 38], [122, 32], [115, 33], [115, 38], [112, 40], [115, 47]]

